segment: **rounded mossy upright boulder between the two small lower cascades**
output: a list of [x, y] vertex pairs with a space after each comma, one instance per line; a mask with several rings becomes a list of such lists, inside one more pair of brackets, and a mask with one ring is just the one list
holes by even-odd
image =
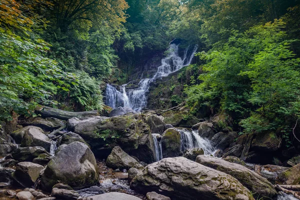
[[180, 156], [180, 146], [180, 132], [175, 128], [166, 129], [161, 137], [162, 157]]

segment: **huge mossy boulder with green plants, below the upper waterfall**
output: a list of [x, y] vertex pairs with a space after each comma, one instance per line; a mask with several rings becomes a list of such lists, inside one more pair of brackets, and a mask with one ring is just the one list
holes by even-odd
[[81, 120], [74, 127], [91, 147], [95, 155], [106, 158], [114, 146], [136, 156], [140, 161], [155, 160], [154, 142], [150, 127], [141, 114], [114, 117], [94, 117]]

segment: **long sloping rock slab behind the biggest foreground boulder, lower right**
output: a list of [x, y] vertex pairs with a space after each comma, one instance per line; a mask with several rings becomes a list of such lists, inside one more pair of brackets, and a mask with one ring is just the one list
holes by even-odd
[[267, 179], [261, 177], [245, 166], [227, 162], [220, 158], [208, 157], [204, 155], [198, 155], [196, 162], [232, 175], [250, 191], [255, 192], [254, 195], [256, 197], [272, 197], [276, 194], [276, 190], [271, 186], [272, 184]]

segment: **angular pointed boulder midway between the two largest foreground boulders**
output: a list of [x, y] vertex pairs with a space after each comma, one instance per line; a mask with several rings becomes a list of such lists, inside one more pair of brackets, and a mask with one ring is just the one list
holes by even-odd
[[125, 153], [119, 146], [114, 146], [106, 159], [106, 165], [113, 169], [129, 169], [138, 162]]

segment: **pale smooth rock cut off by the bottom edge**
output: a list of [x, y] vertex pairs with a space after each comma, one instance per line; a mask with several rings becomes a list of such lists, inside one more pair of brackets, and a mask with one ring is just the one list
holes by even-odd
[[85, 197], [84, 200], [141, 200], [136, 196], [120, 192], [108, 192], [94, 196]]

